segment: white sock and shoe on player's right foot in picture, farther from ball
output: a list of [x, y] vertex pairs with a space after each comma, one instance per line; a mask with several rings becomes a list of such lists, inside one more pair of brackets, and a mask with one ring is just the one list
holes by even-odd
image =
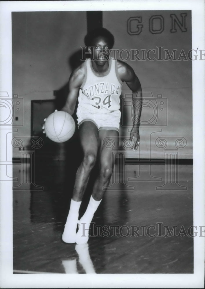
[[85, 244], [89, 238], [89, 227], [92, 221], [93, 215], [97, 210], [98, 206], [100, 205], [100, 201], [96, 201], [93, 197], [90, 197], [89, 204], [87, 206], [87, 210], [85, 214], [78, 222], [78, 232], [76, 234], [76, 243], [77, 244]]

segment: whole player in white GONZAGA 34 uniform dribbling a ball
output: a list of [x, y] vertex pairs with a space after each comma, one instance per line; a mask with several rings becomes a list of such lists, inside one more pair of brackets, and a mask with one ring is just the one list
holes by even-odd
[[[109, 184], [113, 162], [111, 149], [103, 145], [107, 137], [113, 138], [115, 148], [119, 144], [120, 94], [125, 81], [133, 92], [133, 105], [138, 106], [138, 115], [133, 120], [130, 140], [132, 149], [139, 146], [139, 125], [142, 109], [142, 89], [133, 69], [120, 60], [109, 57], [109, 49], [114, 45], [114, 36], [105, 28], [94, 29], [85, 36], [85, 45], [91, 58], [76, 68], [69, 78], [69, 94], [63, 111], [74, 113], [78, 99], [77, 121], [83, 160], [74, 185], [70, 210], [62, 240], [66, 243], [85, 244], [88, 241], [89, 226], [105, 190]], [[94, 183], [90, 201], [83, 217], [78, 221], [78, 211], [85, 192], [89, 175], [99, 153], [99, 175]], [[76, 234], [76, 227], [78, 231]]]

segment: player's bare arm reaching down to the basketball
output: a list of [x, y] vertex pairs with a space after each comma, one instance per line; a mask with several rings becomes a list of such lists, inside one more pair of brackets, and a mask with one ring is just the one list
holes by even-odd
[[79, 66], [70, 75], [68, 86], [69, 93], [62, 111], [68, 112], [70, 115], [74, 113], [76, 101], [78, 99], [78, 93], [80, 86], [84, 79], [84, 66]]

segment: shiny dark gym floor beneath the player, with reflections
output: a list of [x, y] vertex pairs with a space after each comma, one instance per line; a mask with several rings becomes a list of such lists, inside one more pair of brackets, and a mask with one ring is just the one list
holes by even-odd
[[[61, 240], [75, 169], [63, 161], [36, 162], [32, 184], [22, 183], [26, 173], [14, 164], [14, 273], [193, 273], [191, 165], [178, 166], [177, 190], [158, 188], [165, 184], [164, 165], [115, 167], [85, 245]], [[34, 183], [43, 190], [33, 190]], [[90, 191], [91, 185], [80, 216]], [[173, 237], [175, 229], [180, 236]]]

